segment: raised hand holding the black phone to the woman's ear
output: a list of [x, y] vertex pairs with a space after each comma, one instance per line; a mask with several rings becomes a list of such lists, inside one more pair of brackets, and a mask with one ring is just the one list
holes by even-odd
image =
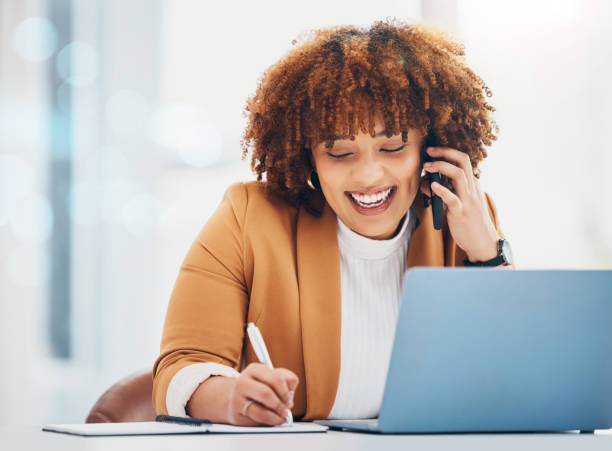
[[[432, 157], [446, 161], [427, 162], [423, 169], [439, 172], [453, 181], [455, 192], [436, 182], [431, 184], [433, 194], [440, 196], [446, 205], [446, 219], [453, 239], [472, 262], [494, 258], [500, 236], [489, 216], [478, 180], [472, 173], [470, 157], [449, 147], [428, 147], [426, 151]], [[421, 180], [421, 191], [430, 196], [427, 177]]]

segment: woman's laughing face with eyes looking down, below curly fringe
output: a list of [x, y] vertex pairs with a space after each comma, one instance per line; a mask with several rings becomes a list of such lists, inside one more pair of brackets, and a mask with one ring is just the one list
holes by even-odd
[[376, 136], [359, 133], [355, 140], [337, 137], [331, 149], [318, 143], [312, 149], [323, 195], [351, 230], [377, 240], [393, 237], [419, 189], [423, 137], [409, 130], [385, 136], [382, 121]]

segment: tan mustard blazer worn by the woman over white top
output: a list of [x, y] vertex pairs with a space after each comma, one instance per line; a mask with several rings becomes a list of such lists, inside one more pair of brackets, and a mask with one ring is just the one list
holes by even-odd
[[[485, 195], [500, 234], [495, 205]], [[446, 224], [435, 230], [419, 192], [408, 267], [463, 266]], [[236, 183], [202, 228], [180, 268], [153, 367], [153, 403], [167, 414], [166, 391], [181, 368], [217, 362], [242, 371], [258, 362], [245, 333], [254, 322], [275, 367], [300, 379], [292, 413], [327, 418], [340, 375], [340, 254], [337, 220], [270, 199], [262, 182]]]

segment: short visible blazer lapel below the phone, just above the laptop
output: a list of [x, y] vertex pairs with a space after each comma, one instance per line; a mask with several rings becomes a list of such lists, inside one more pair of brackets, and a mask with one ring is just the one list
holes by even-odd
[[423, 205], [424, 195], [419, 191], [414, 199], [413, 211], [418, 218], [410, 237], [407, 267], [444, 266], [444, 238], [442, 230], [433, 227], [431, 208]]

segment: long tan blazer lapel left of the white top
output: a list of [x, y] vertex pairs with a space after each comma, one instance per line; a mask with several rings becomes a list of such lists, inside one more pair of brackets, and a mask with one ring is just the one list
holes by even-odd
[[327, 418], [340, 377], [340, 251], [337, 219], [325, 204], [320, 217], [300, 209], [297, 272], [306, 413], [303, 420]]

